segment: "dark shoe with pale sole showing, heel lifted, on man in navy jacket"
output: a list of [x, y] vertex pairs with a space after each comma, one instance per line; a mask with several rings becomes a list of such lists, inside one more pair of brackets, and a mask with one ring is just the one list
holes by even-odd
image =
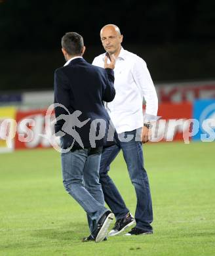
[[108, 228], [113, 221], [113, 213], [111, 211], [106, 211], [104, 215], [100, 218], [97, 224], [96, 231], [92, 234], [95, 238], [96, 243], [101, 242], [107, 236]]

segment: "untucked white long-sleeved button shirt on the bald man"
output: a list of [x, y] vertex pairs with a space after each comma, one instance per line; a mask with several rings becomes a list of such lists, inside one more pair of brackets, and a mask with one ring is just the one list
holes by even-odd
[[[104, 68], [104, 54], [94, 58], [92, 64]], [[157, 119], [158, 100], [146, 62], [121, 47], [114, 69], [116, 91], [112, 102], [106, 104], [107, 112], [117, 133], [132, 131], [143, 126], [144, 121]], [[146, 100], [146, 114], [142, 103]]]

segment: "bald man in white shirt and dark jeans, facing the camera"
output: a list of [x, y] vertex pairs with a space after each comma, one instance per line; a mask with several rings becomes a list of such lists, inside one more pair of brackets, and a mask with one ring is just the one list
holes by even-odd
[[[114, 69], [116, 95], [112, 102], [106, 104], [106, 108], [119, 134], [119, 144], [104, 148], [100, 163], [100, 183], [104, 199], [116, 218], [115, 226], [109, 235], [119, 234], [135, 221], [136, 226], [126, 235], [152, 234], [153, 211], [149, 181], [144, 169], [142, 143], [150, 139], [151, 121], [157, 119], [157, 93], [146, 62], [121, 47], [123, 35], [117, 26], [113, 24], [104, 26], [100, 37], [106, 53], [94, 58], [92, 64], [104, 68], [107, 54], [109, 56], [114, 54], [116, 59]], [[142, 110], [143, 98], [146, 100], [145, 115]], [[136, 190], [135, 221], [108, 175], [109, 165], [120, 150], [123, 150], [128, 173]]]

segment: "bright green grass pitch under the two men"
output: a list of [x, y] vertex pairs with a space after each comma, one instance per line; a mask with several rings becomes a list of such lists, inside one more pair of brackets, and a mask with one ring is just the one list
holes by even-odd
[[[96, 244], [81, 243], [87, 219], [64, 190], [58, 152], [1, 154], [0, 255], [215, 255], [215, 143], [151, 143], [144, 156], [154, 234]], [[136, 197], [121, 154], [110, 176], [134, 213]]]

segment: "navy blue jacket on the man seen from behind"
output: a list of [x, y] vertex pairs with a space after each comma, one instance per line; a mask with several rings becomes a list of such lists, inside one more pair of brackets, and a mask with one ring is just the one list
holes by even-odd
[[[68, 148], [73, 143], [75, 149], [114, 144], [113, 141], [107, 141], [110, 117], [103, 102], [103, 100], [111, 102], [115, 97], [113, 83], [113, 70], [92, 66], [83, 58], [75, 58], [67, 66], [58, 68], [54, 72], [54, 103], [64, 105], [69, 111], [68, 113], [60, 106], [55, 108], [55, 116], [58, 120], [55, 132], [58, 133], [57, 135], [59, 133], [60, 136], [64, 135], [61, 139], [62, 148]], [[76, 117], [72, 115], [75, 113]], [[103, 126], [101, 123], [97, 126], [93, 125], [95, 119], [103, 119]], [[99, 129], [104, 127], [104, 123], [106, 127], [102, 136], [100, 133], [102, 130]], [[99, 136], [94, 140], [95, 144], [90, 140], [90, 131], [91, 137]]]

